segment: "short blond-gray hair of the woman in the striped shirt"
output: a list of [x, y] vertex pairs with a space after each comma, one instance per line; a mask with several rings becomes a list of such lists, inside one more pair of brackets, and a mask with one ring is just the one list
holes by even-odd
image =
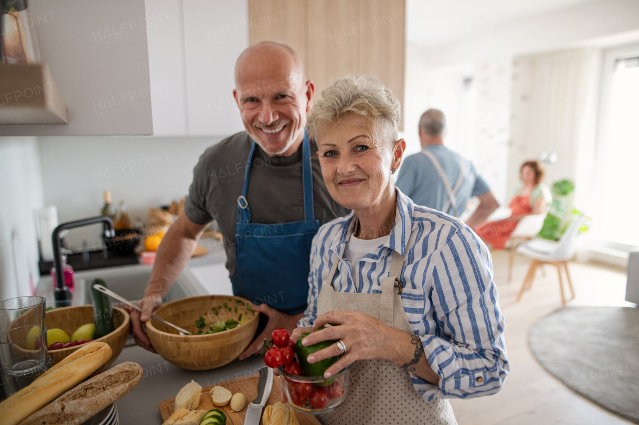
[[386, 137], [392, 138], [392, 142], [397, 140], [397, 124], [401, 118], [399, 101], [373, 75], [352, 73], [323, 89], [321, 99], [309, 113], [309, 137], [316, 139], [319, 132], [327, 130], [347, 114], [376, 121], [383, 126], [382, 133]]

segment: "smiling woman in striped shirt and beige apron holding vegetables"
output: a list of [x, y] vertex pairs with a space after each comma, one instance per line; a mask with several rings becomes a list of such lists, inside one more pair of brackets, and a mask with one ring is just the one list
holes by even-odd
[[456, 424], [449, 397], [495, 394], [509, 373], [490, 254], [463, 221], [413, 204], [393, 184], [406, 147], [399, 102], [377, 78], [348, 76], [309, 116], [330, 195], [353, 209], [319, 228], [309, 306], [291, 338], [339, 341], [325, 372], [353, 364], [344, 405], [323, 424]]

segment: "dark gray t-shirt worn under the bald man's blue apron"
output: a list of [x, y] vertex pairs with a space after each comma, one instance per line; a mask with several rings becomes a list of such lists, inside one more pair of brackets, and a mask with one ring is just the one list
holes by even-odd
[[[252, 138], [242, 131], [215, 144], [200, 156], [184, 204], [187, 218], [203, 225], [217, 221], [226, 250], [229, 276], [235, 272], [237, 199], [242, 195]], [[321, 224], [345, 216], [350, 210], [328, 194], [319, 168], [317, 145], [311, 141], [315, 219]], [[250, 167], [247, 201], [250, 222], [275, 224], [304, 219], [302, 149], [291, 156], [270, 157], [256, 145]], [[310, 261], [310, 258], [309, 258]]]

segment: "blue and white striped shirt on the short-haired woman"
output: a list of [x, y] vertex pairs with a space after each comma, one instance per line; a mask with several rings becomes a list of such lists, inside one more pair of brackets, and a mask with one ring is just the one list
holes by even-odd
[[404, 257], [399, 280], [408, 322], [422, 339], [426, 359], [439, 375], [433, 385], [411, 373], [422, 396], [472, 398], [498, 392], [510, 366], [506, 359], [504, 316], [493, 283], [488, 248], [463, 221], [413, 204], [397, 189], [397, 211], [389, 238], [362, 258], [354, 269], [343, 258], [355, 213], [319, 228], [311, 247], [309, 306], [298, 325], [317, 317], [317, 297], [334, 261], [333, 287], [339, 292], [381, 294], [389, 275], [392, 250]]

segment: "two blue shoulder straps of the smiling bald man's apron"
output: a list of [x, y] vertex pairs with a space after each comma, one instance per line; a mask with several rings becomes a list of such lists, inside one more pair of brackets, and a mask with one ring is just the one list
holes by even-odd
[[[249, 191], [250, 165], [255, 152], [255, 142], [250, 147], [249, 159], [247, 160], [246, 171], [244, 172], [244, 185], [242, 195], [238, 197], [238, 223], [250, 222], [249, 202], [246, 194]], [[304, 129], [304, 141], [302, 142], [302, 187], [304, 188], [304, 220], [315, 220], [315, 209], [313, 205], [313, 172], [311, 167], [311, 142]]]

